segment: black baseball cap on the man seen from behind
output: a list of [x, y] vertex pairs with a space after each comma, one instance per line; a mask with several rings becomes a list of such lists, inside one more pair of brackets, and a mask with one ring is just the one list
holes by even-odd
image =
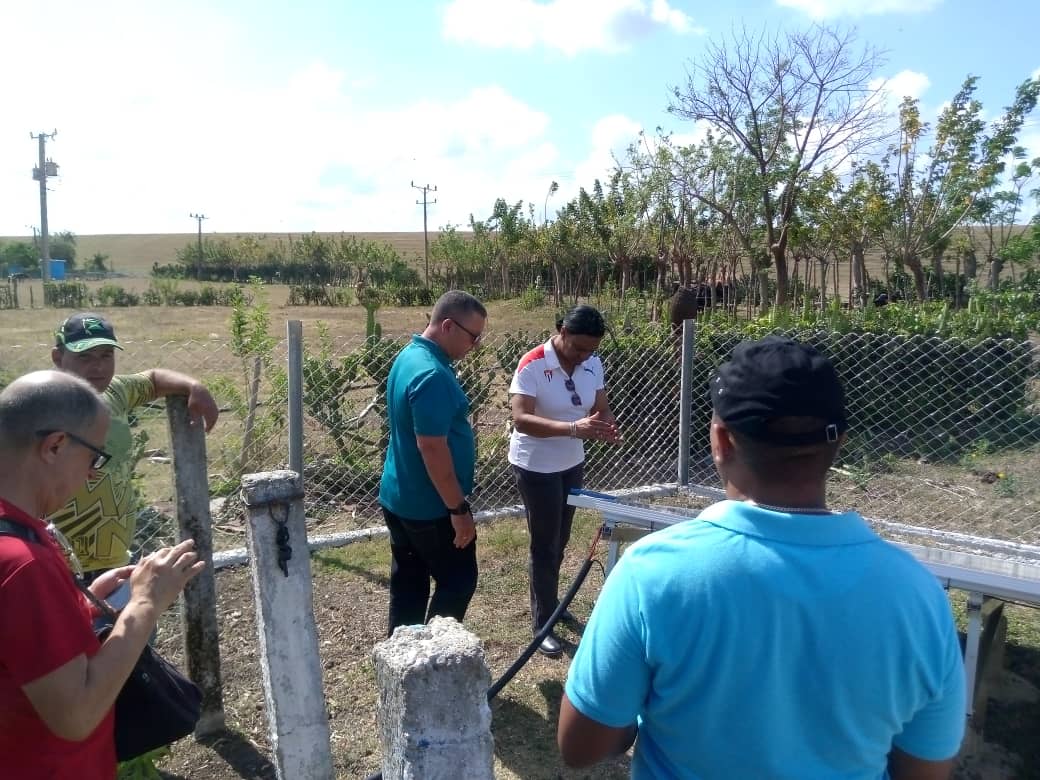
[[[844, 389], [830, 360], [813, 347], [780, 336], [743, 341], [708, 383], [716, 414], [750, 439], [780, 446], [835, 442], [849, 422]], [[779, 417], [815, 417], [820, 428], [774, 431]]]

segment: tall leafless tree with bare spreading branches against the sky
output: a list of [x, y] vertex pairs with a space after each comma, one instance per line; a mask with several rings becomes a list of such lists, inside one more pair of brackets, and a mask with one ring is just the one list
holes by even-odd
[[[760, 204], [761, 250], [752, 252], [762, 287], [770, 261], [775, 303], [787, 300], [787, 241], [798, 199], [807, 182], [876, 146], [885, 134], [883, 85], [872, 83], [882, 55], [859, 46], [854, 32], [814, 26], [805, 32], [753, 35], [734, 30], [691, 63], [685, 87], [675, 87], [670, 112], [708, 123], [717, 142], [736, 151], [739, 187]], [[709, 155], [718, 164], [726, 155]], [[717, 177], [716, 177], [717, 178]], [[712, 177], [700, 177], [709, 182]], [[735, 227], [726, 203], [697, 182], [701, 202]], [[750, 243], [751, 235], [742, 236]], [[764, 304], [764, 302], [763, 302]]]

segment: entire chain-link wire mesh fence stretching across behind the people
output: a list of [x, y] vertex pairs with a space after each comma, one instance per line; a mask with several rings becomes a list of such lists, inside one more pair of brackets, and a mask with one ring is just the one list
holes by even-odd
[[[849, 441], [834, 468], [831, 504], [867, 517], [1031, 545], [1040, 544], [1040, 348], [1033, 342], [878, 334], [788, 334], [830, 356], [843, 380]], [[519, 358], [548, 333], [490, 334], [458, 364], [477, 435], [478, 510], [520, 502], [506, 460], [508, 387]], [[616, 490], [674, 482], [680, 446], [691, 483], [718, 485], [708, 451], [713, 368], [738, 336], [698, 335], [691, 441], [679, 442], [680, 356], [664, 332], [601, 343], [607, 392], [624, 435], [620, 445], [586, 444], [587, 487]], [[382, 524], [379, 480], [386, 435], [384, 383], [404, 339], [304, 334], [304, 473], [313, 532]], [[207, 437], [214, 545], [244, 543], [234, 500], [241, 474], [288, 463], [286, 349], [260, 358], [230, 343], [126, 342], [118, 370], [160, 366], [202, 381], [220, 410]], [[11, 375], [46, 367], [50, 345], [8, 348]], [[173, 539], [173, 478], [162, 400], [135, 412], [136, 485], [141, 510], [134, 547]]]

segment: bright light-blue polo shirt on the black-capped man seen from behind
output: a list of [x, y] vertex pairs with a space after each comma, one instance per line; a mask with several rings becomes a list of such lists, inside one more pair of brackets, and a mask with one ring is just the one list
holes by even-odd
[[652, 534], [603, 587], [567, 680], [639, 718], [633, 778], [887, 776], [955, 755], [964, 670], [935, 577], [855, 513], [722, 501]]

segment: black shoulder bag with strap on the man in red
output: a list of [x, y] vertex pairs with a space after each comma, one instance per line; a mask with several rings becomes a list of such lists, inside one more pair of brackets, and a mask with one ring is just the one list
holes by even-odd
[[[32, 528], [0, 518], [0, 534], [38, 544]], [[118, 614], [74, 577], [77, 587], [110, 624], [96, 629], [104, 642]], [[177, 668], [146, 645], [115, 698], [115, 757], [127, 761], [187, 736], [202, 714], [202, 692]]]

